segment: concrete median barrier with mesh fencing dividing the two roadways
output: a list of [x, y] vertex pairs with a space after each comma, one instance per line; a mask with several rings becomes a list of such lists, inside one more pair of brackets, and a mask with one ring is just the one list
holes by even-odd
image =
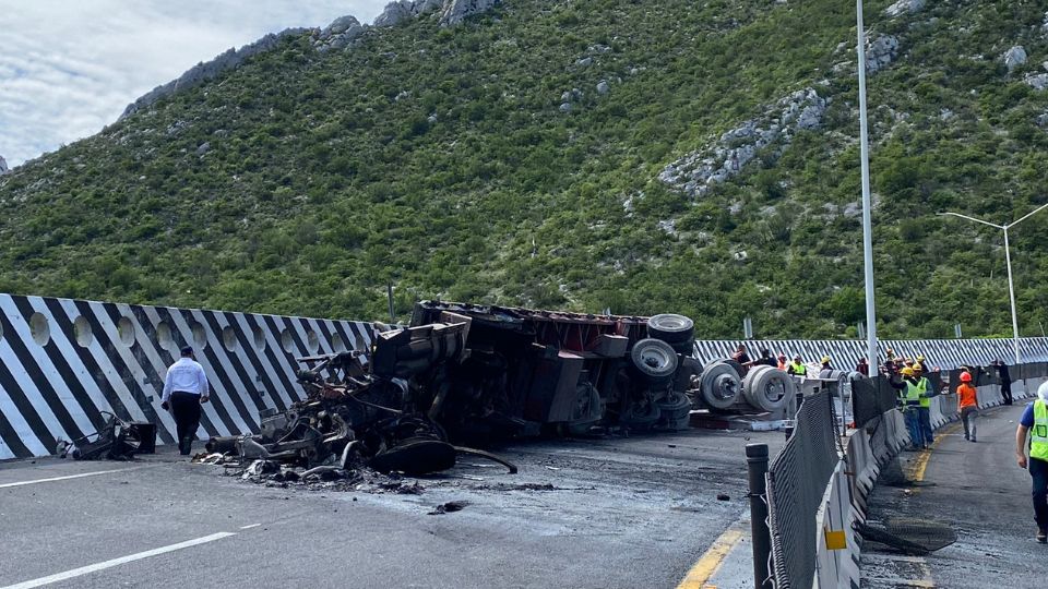
[[[1048, 380], [1048, 364], [1010, 366], [1012, 396], [1034, 395]], [[957, 419], [954, 394], [960, 371], [929, 374], [937, 390], [931, 399], [932, 428]], [[996, 375], [977, 374], [979, 407], [1003, 402]], [[857, 429], [846, 438], [834, 429], [829, 393], [807, 397], [797, 413], [793, 437], [767, 473], [771, 579], [759, 587], [858, 587], [861, 545], [853, 525], [865, 521], [867, 498], [881, 470], [909, 444], [896, 390], [878, 376], [851, 383]], [[758, 557], [757, 555], [754, 557]]]

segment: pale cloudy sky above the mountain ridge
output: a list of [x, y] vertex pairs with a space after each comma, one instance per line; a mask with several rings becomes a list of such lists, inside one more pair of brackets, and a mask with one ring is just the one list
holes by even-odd
[[388, 0], [0, 0], [0, 156], [97, 133], [129, 103], [230, 47]]

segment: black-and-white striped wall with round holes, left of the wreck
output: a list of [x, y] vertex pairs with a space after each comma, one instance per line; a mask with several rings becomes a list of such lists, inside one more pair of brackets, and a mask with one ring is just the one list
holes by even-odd
[[370, 323], [0, 293], [0, 459], [44, 456], [58, 438], [94, 433], [103, 411], [151, 421], [167, 366], [192, 346], [211, 382], [198, 436], [259, 431], [259, 412], [303, 393], [295, 358], [367, 349]]

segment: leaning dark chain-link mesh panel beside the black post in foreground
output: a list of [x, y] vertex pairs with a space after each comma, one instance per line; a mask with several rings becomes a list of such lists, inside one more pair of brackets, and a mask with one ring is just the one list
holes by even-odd
[[815, 513], [837, 465], [835, 416], [829, 392], [806, 397], [794, 433], [767, 470], [772, 575], [776, 587], [811, 587]]

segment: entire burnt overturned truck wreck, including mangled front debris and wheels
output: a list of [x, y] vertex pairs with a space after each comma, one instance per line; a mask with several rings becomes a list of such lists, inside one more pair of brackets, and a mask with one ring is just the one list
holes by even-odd
[[[465, 447], [515, 436], [674, 431], [693, 409], [783, 407], [784, 372], [692, 357], [682, 315], [632, 317], [421, 302], [371, 350], [299, 359], [306, 398], [262, 416], [258, 435], [215, 437], [201, 461], [246, 477], [355, 480], [370, 469], [449, 469]], [[290, 474], [289, 474], [290, 473]]]

